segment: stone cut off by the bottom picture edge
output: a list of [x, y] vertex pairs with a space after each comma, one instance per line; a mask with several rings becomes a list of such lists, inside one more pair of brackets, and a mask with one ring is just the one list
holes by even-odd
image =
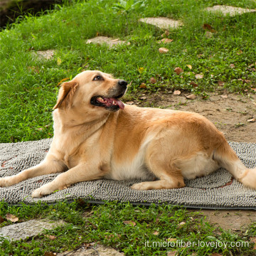
[[68, 251], [68, 252], [61, 252], [58, 253], [57, 256], [64, 256], [64, 255], [72, 255], [73, 256], [124, 256], [123, 252], [118, 252], [111, 247], [106, 247], [103, 245], [96, 245], [95, 247], [81, 247], [75, 251]]

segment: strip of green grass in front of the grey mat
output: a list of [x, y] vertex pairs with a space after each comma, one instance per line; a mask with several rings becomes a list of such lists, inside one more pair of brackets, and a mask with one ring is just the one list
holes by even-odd
[[[254, 255], [251, 237], [256, 235], [256, 225], [238, 235], [214, 228], [198, 212], [188, 212], [176, 206], [132, 206], [129, 203], [105, 203], [93, 206], [84, 201], [58, 203], [48, 206], [38, 203], [36, 206], [0, 205], [0, 215], [12, 213], [19, 221], [31, 218], [49, 218], [65, 220], [66, 224], [54, 230], [46, 230], [35, 238], [9, 242], [2, 240], [0, 255], [44, 255], [45, 252], [63, 252], [81, 245], [100, 242], [124, 252], [125, 255], [166, 255], [166, 251], [178, 250], [179, 255]], [[125, 224], [133, 221], [135, 225]], [[184, 225], [180, 223], [184, 222]], [[11, 224], [5, 221], [1, 226]], [[158, 232], [158, 233], [156, 233]], [[54, 235], [50, 240], [46, 235]], [[218, 242], [220, 246], [166, 247], [163, 242], [176, 238], [183, 242]], [[1, 238], [0, 238], [1, 240]], [[156, 242], [156, 246], [153, 247]], [[162, 242], [161, 246], [160, 242]], [[233, 247], [231, 242], [248, 242], [244, 247]], [[227, 245], [226, 247], [224, 246]], [[223, 244], [223, 246], [221, 246]], [[148, 246], [145, 246], [148, 245]], [[203, 244], [202, 244], [203, 245]], [[232, 254], [231, 254], [232, 253]]]

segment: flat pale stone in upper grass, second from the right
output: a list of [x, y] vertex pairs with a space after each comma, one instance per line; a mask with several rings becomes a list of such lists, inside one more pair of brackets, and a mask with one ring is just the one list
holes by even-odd
[[139, 21], [154, 25], [161, 29], [180, 28], [183, 26], [182, 21], [176, 21], [172, 18], [158, 17], [158, 18], [140, 18]]

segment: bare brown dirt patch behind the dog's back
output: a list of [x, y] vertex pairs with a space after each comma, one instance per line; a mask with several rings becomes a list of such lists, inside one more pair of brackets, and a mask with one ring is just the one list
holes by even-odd
[[256, 143], [256, 122], [247, 122], [248, 119], [256, 118], [256, 95], [211, 93], [207, 100], [201, 97], [188, 100], [185, 95], [187, 94], [173, 95], [162, 92], [141, 94], [137, 95], [137, 98], [144, 101], [139, 103], [134, 100], [134, 104], [140, 107], [164, 107], [197, 112], [210, 119], [225, 134], [228, 141]]

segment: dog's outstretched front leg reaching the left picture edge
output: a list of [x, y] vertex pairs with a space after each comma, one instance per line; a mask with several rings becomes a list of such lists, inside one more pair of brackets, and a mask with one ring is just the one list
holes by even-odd
[[48, 154], [40, 164], [33, 166], [29, 169], [21, 171], [14, 176], [0, 178], [0, 187], [12, 186], [28, 178], [41, 176], [44, 174], [55, 174], [64, 171], [66, 168], [62, 161], [59, 161], [55, 156]]

